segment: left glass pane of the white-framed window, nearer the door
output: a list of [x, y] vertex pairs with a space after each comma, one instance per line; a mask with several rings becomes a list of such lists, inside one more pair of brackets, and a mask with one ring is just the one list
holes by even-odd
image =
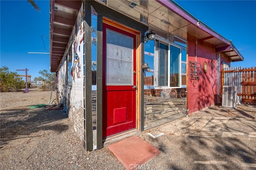
[[168, 45], [159, 43], [159, 86], [168, 86]]

